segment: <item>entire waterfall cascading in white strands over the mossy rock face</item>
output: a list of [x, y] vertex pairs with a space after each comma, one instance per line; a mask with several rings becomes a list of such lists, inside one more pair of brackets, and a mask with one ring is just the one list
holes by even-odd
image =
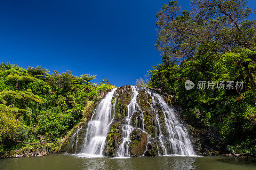
[[[158, 155], [162, 155], [162, 154], [163, 155], [169, 155], [169, 154], [195, 155], [195, 152], [193, 151], [193, 146], [189, 139], [188, 131], [186, 127], [179, 122], [178, 116], [175, 114], [174, 108], [168, 105], [160, 94], [157, 94], [155, 91], [151, 91], [150, 89], [139, 87], [140, 90], [144, 90], [147, 96], [147, 99], [146, 99], [147, 106], [149, 106], [152, 111], [150, 113], [150, 120], [148, 120], [148, 110], [145, 110], [145, 108], [147, 107], [143, 105], [141, 109], [139, 103], [137, 102], [137, 96], [139, 95], [138, 88], [136, 86], [131, 86], [131, 89], [132, 89], [132, 99], [127, 105], [127, 111], [126, 111], [127, 116], [124, 117], [122, 121], [124, 123], [122, 125], [122, 136], [120, 136], [121, 139], [113, 138], [114, 141], [119, 140], [118, 143], [115, 143], [116, 157], [123, 157], [123, 158], [130, 157], [131, 148], [132, 148], [131, 155], [134, 154], [134, 147], [133, 145], [130, 144], [130, 142], [132, 142], [130, 140], [130, 135], [133, 130], [135, 130], [135, 133], [138, 133], [137, 131], [139, 130], [143, 134], [147, 134], [147, 141], [146, 141], [147, 144], [145, 143], [145, 138], [143, 143], [144, 144], [143, 147], [146, 147], [146, 151], [144, 152], [143, 155], [148, 156], [149, 152], [152, 152], [151, 149], [153, 149], [154, 150], [153, 152], [155, 152], [156, 154], [158, 152]], [[105, 148], [106, 142], [107, 142], [106, 137], [108, 135], [108, 132], [110, 129], [109, 126], [111, 122], [116, 121], [114, 120], [115, 116], [118, 117], [120, 115], [120, 109], [122, 107], [120, 107], [119, 101], [117, 102], [117, 98], [118, 100], [120, 100], [118, 96], [122, 95], [120, 94], [120, 91], [121, 90], [119, 90], [119, 93], [116, 93], [116, 89], [112, 89], [111, 92], [108, 92], [105, 98], [100, 101], [100, 104], [94, 110], [92, 114], [92, 118], [88, 122], [87, 131], [85, 133], [83, 146], [81, 149], [81, 153], [85, 153], [86, 157], [87, 155], [102, 156], [103, 150], [104, 150], [104, 153], [109, 153], [108, 149]], [[124, 91], [122, 93], [124, 93], [125, 91], [127, 91], [126, 86], [124, 86]], [[122, 98], [125, 95], [127, 95], [127, 92], [125, 92]], [[114, 96], [116, 98], [113, 102], [113, 105], [114, 105], [113, 106], [112, 98]], [[143, 95], [140, 95], [138, 97], [138, 101], [140, 102], [142, 100], [142, 104], [143, 104], [144, 100], [143, 98], [141, 99], [142, 96]], [[149, 98], [150, 98], [150, 101], [149, 101]], [[147, 116], [146, 120], [150, 122], [152, 121], [152, 126], [153, 126], [152, 128], [154, 128], [155, 126], [156, 138], [154, 139], [152, 139], [151, 136], [149, 135], [153, 131], [149, 130], [150, 133], [147, 133], [145, 131], [145, 127], [148, 131], [149, 122], [146, 122], [147, 123], [146, 126], [144, 125], [144, 114], [142, 110], [146, 113], [146, 116]], [[113, 111], [113, 117], [111, 116], [112, 111]], [[118, 115], [116, 115], [116, 113], [118, 113]], [[154, 119], [154, 115], [155, 115], [155, 119]], [[165, 127], [165, 129], [162, 129], [163, 127]], [[80, 129], [82, 129], [82, 127]], [[77, 143], [78, 143], [77, 140], [78, 140], [78, 133], [80, 129], [77, 129], [76, 133], [72, 136], [72, 142], [70, 144], [70, 146], [72, 145], [71, 153], [77, 153]], [[121, 132], [117, 132], [117, 130], [118, 129], [116, 129], [116, 133], [117, 133], [116, 137], [118, 137], [118, 133], [119, 134], [121, 133]], [[73, 146], [75, 149], [73, 149]], [[152, 148], [152, 146], [154, 148]], [[109, 145], [107, 148], [109, 148]], [[112, 156], [114, 156], [114, 154]]]

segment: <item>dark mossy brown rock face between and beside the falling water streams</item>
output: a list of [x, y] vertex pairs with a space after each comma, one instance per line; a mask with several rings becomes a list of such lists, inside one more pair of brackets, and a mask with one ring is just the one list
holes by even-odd
[[[157, 89], [153, 89], [157, 90]], [[161, 92], [162, 89], [159, 89]], [[102, 99], [107, 92], [102, 92], [100, 99]], [[129, 135], [129, 141], [125, 143], [125, 150], [129, 150], [130, 157], [150, 156], [156, 157], [159, 155], [172, 153], [170, 139], [168, 138], [168, 130], [165, 124], [168, 119], [167, 115], [163, 113], [161, 106], [158, 103], [153, 103], [151, 95], [144, 89], [137, 89], [137, 103], [136, 111], [131, 116], [131, 126], [134, 127]], [[167, 93], [161, 93], [166, 103], [172, 105], [172, 96]], [[116, 89], [115, 95], [112, 98], [112, 114], [113, 122], [109, 125], [108, 135], [105, 140], [105, 148], [102, 152], [105, 156], [116, 157], [118, 154], [118, 147], [122, 144], [124, 139], [123, 124], [126, 122], [128, 116], [127, 106], [132, 99], [132, 88], [130, 85], [121, 86]], [[157, 101], [158, 102], [158, 101]], [[68, 151], [69, 153], [80, 153], [82, 150], [84, 135], [87, 130], [87, 124], [91, 119], [93, 110], [97, 103], [94, 103], [90, 109], [85, 112], [86, 120], [80, 123], [71, 133], [61, 148], [61, 151]], [[153, 106], [154, 105], [154, 106]], [[180, 120], [181, 108], [174, 108], [174, 114]], [[182, 122], [182, 120], [180, 120]], [[184, 123], [183, 123], [184, 124]], [[209, 145], [210, 141], [207, 137], [207, 132], [204, 129], [195, 129], [187, 125], [191, 143], [194, 146], [194, 151], [198, 155], [218, 155], [215, 150], [216, 147]], [[161, 137], [160, 137], [161, 136]], [[128, 148], [127, 148], [128, 147]]]

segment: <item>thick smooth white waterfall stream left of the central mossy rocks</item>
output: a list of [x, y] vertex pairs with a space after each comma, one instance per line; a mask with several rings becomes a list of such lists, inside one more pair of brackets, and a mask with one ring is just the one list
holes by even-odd
[[109, 125], [112, 122], [111, 101], [115, 91], [116, 89], [112, 89], [111, 92], [108, 92], [105, 98], [100, 101], [100, 104], [94, 110], [92, 118], [90, 122], [88, 122], [81, 153], [102, 155], [102, 151], [105, 147], [105, 140], [109, 131]]

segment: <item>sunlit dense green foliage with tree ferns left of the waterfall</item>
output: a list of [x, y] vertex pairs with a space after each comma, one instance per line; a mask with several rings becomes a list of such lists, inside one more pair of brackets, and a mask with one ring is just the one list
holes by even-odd
[[87, 103], [114, 88], [106, 79], [89, 83], [95, 75], [77, 77], [37, 66], [0, 65], [0, 153], [23, 147], [17, 142], [58, 141], [83, 117]]

